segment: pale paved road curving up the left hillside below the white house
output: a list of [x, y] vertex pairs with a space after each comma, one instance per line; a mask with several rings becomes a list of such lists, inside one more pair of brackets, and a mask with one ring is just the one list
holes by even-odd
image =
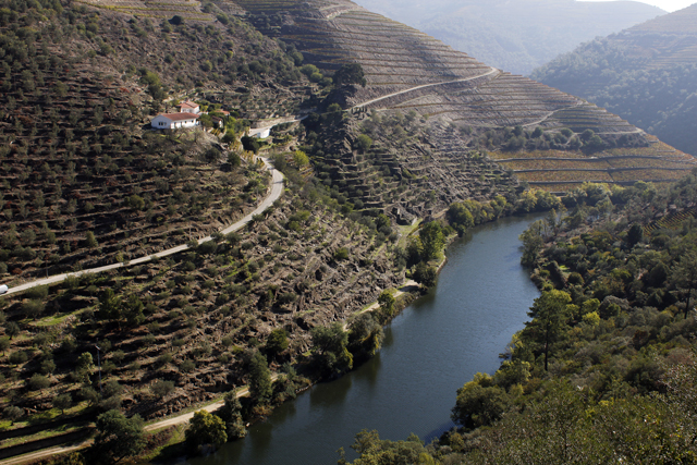
[[[261, 204], [259, 204], [259, 206], [253, 212], [250, 212], [249, 215], [247, 215], [246, 217], [244, 217], [243, 219], [241, 219], [236, 223], [232, 224], [231, 227], [225, 228], [224, 230], [221, 231], [221, 233], [228, 234], [228, 233], [231, 233], [233, 231], [237, 231], [237, 230], [244, 228], [248, 222], [252, 221], [252, 217], [253, 216], [262, 213], [264, 210], [269, 208], [276, 200], [279, 199], [279, 197], [281, 197], [281, 194], [283, 193], [283, 174], [280, 171], [273, 169], [273, 167], [271, 167], [271, 164], [269, 163], [268, 159], [261, 158], [261, 160], [266, 164], [267, 169], [271, 172], [271, 178], [272, 178], [271, 192], [269, 193], [269, 195], [264, 200], [261, 200]], [[204, 242], [208, 242], [208, 241], [212, 241], [212, 237], [211, 236], [206, 236], [204, 238], [199, 238], [198, 243], [203, 244]], [[168, 248], [167, 250], [158, 252], [157, 254], [152, 254], [152, 255], [147, 255], [145, 257], [135, 258], [135, 259], [126, 261], [124, 264], [113, 264], [113, 265], [107, 265], [105, 267], [90, 268], [90, 269], [87, 269], [87, 270], [81, 270], [81, 271], [75, 271], [75, 272], [71, 272], [71, 273], [56, 274], [56, 276], [52, 276], [52, 277], [49, 277], [49, 278], [39, 279], [39, 280], [36, 280], [36, 281], [30, 281], [30, 282], [27, 282], [27, 283], [24, 283], [24, 284], [16, 285], [14, 287], [10, 287], [10, 290], [3, 295], [12, 295], [12, 294], [17, 293], [17, 292], [26, 291], [27, 289], [36, 287], [38, 285], [54, 284], [54, 283], [63, 282], [63, 281], [65, 281], [65, 279], [68, 277], [81, 277], [83, 274], [96, 274], [96, 273], [101, 273], [101, 272], [109, 271], [109, 270], [115, 270], [117, 268], [123, 268], [123, 267], [131, 267], [131, 266], [135, 266], [135, 265], [140, 265], [140, 264], [145, 264], [147, 261], [150, 261], [152, 259], [152, 257], [158, 257], [158, 258], [168, 257], [170, 255], [179, 254], [180, 252], [183, 252], [183, 250], [186, 250], [186, 249], [188, 249], [188, 245], [183, 244], [183, 245], [179, 245], [176, 247]]]

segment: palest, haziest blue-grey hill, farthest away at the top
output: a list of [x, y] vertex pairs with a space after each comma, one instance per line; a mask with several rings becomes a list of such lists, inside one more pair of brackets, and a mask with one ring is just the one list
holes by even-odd
[[665, 13], [636, 1], [359, 0], [357, 3], [516, 74], [529, 74], [584, 41]]

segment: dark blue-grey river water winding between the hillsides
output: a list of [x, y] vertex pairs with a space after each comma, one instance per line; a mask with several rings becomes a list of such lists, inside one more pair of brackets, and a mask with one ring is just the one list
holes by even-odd
[[450, 429], [455, 391], [477, 371], [492, 374], [499, 354], [524, 327], [538, 291], [521, 267], [518, 235], [535, 217], [477, 227], [448, 249], [438, 285], [386, 328], [382, 350], [339, 380], [320, 383], [256, 424], [248, 436], [191, 465], [335, 464], [354, 436], [414, 432], [430, 441]]

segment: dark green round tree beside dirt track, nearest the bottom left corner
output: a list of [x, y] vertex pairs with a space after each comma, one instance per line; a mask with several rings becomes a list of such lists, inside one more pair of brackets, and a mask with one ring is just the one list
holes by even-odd
[[93, 451], [95, 456], [107, 463], [118, 463], [138, 455], [145, 449], [145, 432], [139, 415], [126, 418], [119, 411], [105, 412], [97, 417], [96, 427]]

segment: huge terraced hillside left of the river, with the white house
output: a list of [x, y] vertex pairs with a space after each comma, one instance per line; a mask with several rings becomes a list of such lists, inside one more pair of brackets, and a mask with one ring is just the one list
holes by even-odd
[[[416, 220], [468, 200], [488, 221], [559, 201], [529, 185], [665, 182], [694, 164], [346, 0], [0, 5], [0, 279], [125, 265], [0, 297], [3, 446], [112, 408], [179, 412], [261, 365], [277, 382], [244, 416], [264, 416], [306, 386], [293, 367], [331, 378], [379, 347], [395, 307], [363, 307], [407, 276], [429, 285], [432, 254], [407, 247]], [[183, 99], [210, 113], [200, 127], [150, 130]], [[283, 196], [223, 235], [267, 195], [258, 155], [285, 174]]]

